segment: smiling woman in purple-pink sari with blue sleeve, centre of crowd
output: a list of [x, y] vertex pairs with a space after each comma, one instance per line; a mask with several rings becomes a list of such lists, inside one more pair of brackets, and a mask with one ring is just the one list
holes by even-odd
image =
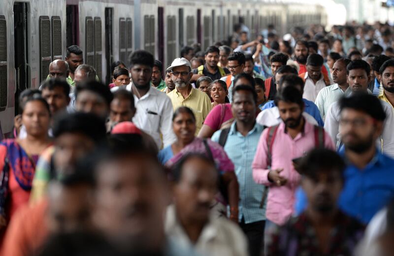
[[[188, 107], [179, 107], [172, 117], [172, 128], [177, 140], [170, 146], [160, 151], [158, 158], [162, 164], [171, 167], [188, 153], [207, 153], [207, 147], [221, 171], [221, 179], [227, 188], [227, 196], [230, 204], [230, 219], [238, 222], [238, 182], [234, 173], [234, 165], [224, 149], [216, 142], [209, 139], [195, 137], [196, 118], [193, 111]], [[211, 157], [208, 156], [208, 157]], [[214, 206], [220, 213], [226, 212], [226, 202], [223, 197], [217, 198]]]

